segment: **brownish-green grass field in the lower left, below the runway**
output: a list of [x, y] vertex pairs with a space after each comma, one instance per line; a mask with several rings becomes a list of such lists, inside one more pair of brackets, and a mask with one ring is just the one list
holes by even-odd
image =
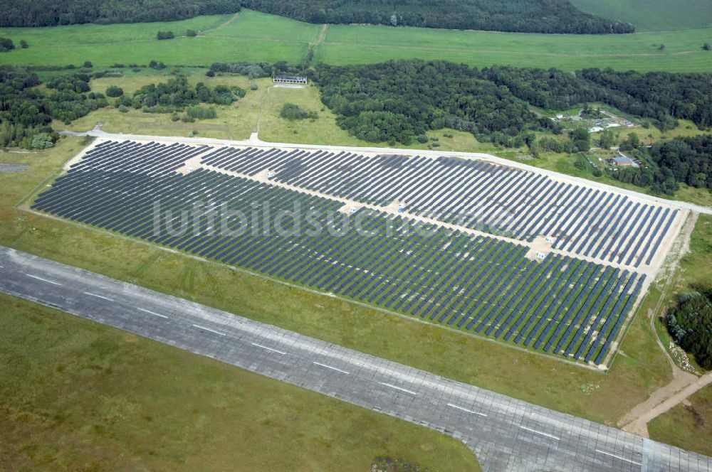
[[0, 294], [0, 469], [478, 471], [415, 424]]

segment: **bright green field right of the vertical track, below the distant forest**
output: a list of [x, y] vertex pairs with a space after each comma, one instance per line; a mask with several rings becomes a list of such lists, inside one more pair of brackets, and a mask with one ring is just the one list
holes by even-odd
[[[389, 59], [444, 59], [485, 67], [607, 68], [693, 72], [712, 70], [702, 44], [712, 28], [632, 35], [543, 35], [388, 26], [331, 26], [319, 62], [346, 65]], [[664, 51], [654, 45], [664, 44]]]

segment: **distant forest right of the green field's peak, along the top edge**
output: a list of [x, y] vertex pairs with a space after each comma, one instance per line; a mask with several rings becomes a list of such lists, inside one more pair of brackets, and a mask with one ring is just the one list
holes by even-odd
[[244, 0], [309, 23], [370, 23], [520, 33], [632, 33], [630, 23], [585, 14], [568, 0]]

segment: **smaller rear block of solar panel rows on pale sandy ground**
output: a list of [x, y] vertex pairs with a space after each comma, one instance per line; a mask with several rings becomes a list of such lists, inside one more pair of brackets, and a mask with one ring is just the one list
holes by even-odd
[[651, 264], [679, 210], [478, 160], [224, 147], [204, 163], [608, 262]]

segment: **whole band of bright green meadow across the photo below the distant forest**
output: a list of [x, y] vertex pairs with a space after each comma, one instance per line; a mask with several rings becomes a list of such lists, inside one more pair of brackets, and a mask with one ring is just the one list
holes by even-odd
[[[159, 29], [180, 35], [187, 28], [201, 30], [204, 35], [155, 39]], [[712, 42], [712, 28], [591, 36], [332, 25], [323, 42], [320, 31], [320, 25], [249, 10], [237, 17], [201, 16], [173, 23], [2, 28], [0, 36], [16, 43], [25, 39], [30, 47], [1, 53], [0, 64], [81, 65], [85, 60], [103, 66], [147, 64], [150, 60], [169, 65], [277, 60], [298, 64], [313, 45], [316, 62], [334, 65], [419, 58], [478, 67], [712, 70], [712, 53], [701, 48]], [[661, 43], [665, 50], [656, 48]]]

